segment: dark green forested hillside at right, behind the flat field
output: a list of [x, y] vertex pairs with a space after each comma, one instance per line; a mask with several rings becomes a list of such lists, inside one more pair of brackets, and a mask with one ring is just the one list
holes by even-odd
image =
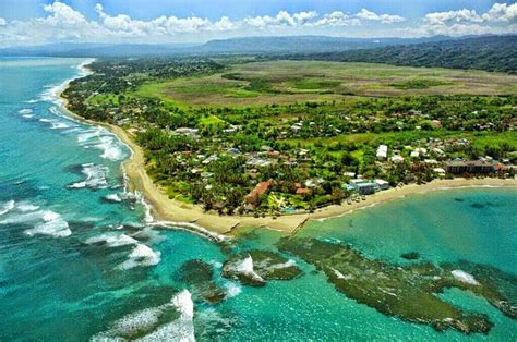
[[339, 52], [298, 53], [281, 58], [479, 69], [517, 74], [517, 35], [447, 39]]

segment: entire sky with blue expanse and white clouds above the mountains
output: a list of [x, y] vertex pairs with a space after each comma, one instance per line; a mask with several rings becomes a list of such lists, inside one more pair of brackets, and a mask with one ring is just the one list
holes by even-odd
[[0, 0], [0, 47], [245, 36], [517, 34], [516, 1]]

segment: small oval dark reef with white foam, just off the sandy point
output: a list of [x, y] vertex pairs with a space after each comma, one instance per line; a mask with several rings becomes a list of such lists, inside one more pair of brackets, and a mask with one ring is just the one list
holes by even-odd
[[260, 249], [233, 255], [223, 266], [223, 277], [250, 286], [264, 286], [267, 280], [290, 280], [301, 273], [293, 260]]

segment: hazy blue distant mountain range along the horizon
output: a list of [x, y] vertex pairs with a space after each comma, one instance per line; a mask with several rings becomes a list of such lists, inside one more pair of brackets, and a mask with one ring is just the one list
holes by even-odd
[[146, 57], [178, 54], [316, 53], [340, 52], [392, 45], [450, 39], [340, 38], [327, 36], [247, 37], [211, 40], [202, 45], [52, 44], [0, 49], [0, 56]]

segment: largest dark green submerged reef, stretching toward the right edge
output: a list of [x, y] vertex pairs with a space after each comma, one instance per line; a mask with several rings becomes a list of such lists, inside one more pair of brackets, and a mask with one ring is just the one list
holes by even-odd
[[[348, 297], [406, 321], [430, 325], [436, 330], [454, 328], [464, 333], [489, 332], [493, 325], [486, 315], [461, 312], [435, 295], [447, 288], [471, 290], [515, 318], [506, 296], [496, 290], [493, 281], [479, 277], [474, 269], [453, 272], [458, 270], [457, 266], [392, 265], [369, 259], [350, 246], [316, 239], [282, 239], [278, 247], [314, 265]], [[458, 280], [458, 274], [465, 276], [467, 271], [471, 278]]]

